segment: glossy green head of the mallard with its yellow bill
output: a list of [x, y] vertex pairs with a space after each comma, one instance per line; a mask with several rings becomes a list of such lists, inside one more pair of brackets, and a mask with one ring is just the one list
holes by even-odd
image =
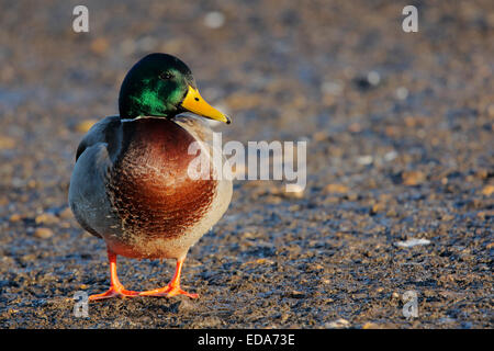
[[199, 94], [189, 67], [167, 54], [147, 55], [132, 67], [120, 89], [119, 110], [122, 118], [173, 117], [189, 111], [211, 120], [231, 122]]

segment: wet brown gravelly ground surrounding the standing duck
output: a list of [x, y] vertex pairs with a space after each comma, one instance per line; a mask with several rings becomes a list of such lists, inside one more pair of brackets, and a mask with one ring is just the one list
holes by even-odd
[[[413, 2], [418, 33], [407, 1], [367, 0], [86, 1], [90, 32], [74, 33], [78, 1], [0, 1], [0, 326], [493, 328], [494, 4]], [[67, 207], [75, 150], [150, 52], [233, 115], [225, 140], [306, 140], [307, 186], [236, 181], [186, 261], [200, 299], [76, 318], [75, 292], [109, 272]], [[119, 272], [151, 288], [173, 262]]]

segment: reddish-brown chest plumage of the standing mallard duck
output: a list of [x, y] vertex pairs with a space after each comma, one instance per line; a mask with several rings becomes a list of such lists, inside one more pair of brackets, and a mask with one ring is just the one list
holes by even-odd
[[177, 238], [205, 216], [214, 180], [192, 180], [188, 148], [195, 139], [167, 120], [123, 123], [123, 148], [110, 171], [106, 192], [124, 236]]

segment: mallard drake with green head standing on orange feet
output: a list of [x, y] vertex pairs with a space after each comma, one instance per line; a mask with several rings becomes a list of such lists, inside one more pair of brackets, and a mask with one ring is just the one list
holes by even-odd
[[[70, 208], [82, 228], [105, 241], [110, 262], [110, 288], [89, 298], [195, 298], [180, 287], [183, 261], [232, 199], [232, 181], [215, 177], [221, 167], [213, 165], [212, 131], [202, 117], [231, 120], [200, 95], [189, 67], [167, 54], [150, 54], [132, 67], [122, 82], [119, 111], [83, 137], [70, 179]], [[192, 143], [204, 151], [211, 177], [189, 176], [198, 157], [189, 152]], [[119, 254], [175, 259], [175, 275], [165, 287], [125, 290], [116, 274]]]

